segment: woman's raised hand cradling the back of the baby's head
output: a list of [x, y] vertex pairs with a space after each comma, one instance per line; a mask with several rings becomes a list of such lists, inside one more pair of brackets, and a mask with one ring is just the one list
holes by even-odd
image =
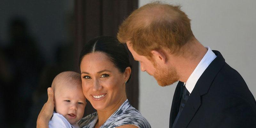
[[53, 114], [53, 108], [54, 108], [53, 95], [54, 94], [51, 87], [47, 89], [47, 93], [48, 93], [48, 100], [44, 104], [42, 110], [40, 111], [37, 117], [37, 121], [36, 121], [37, 128], [49, 128], [48, 124]]

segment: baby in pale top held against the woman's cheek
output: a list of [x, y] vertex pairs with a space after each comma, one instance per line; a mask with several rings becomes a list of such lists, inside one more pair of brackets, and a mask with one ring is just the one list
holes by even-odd
[[52, 82], [55, 111], [49, 128], [79, 128], [76, 124], [84, 115], [86, 99], [82, 91], [81, 75], [72, 72], [58, 74]]

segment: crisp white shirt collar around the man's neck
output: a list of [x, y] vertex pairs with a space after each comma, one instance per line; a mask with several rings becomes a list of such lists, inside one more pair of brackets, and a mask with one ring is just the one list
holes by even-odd
[[207, 50], [206, 54], [204, 55], [203, 59], [199, 62], [196, 66], [195, 70], [192, 74], [188, 77], [186, 84], [186, 88], [189, 93], [191, 93], [196, 86], [196, 82], [200, 78], [200, 76], [204, 73], [204, 70], [210, 65], [210, 63], [217, 57], [210, 47], [205, 47]]

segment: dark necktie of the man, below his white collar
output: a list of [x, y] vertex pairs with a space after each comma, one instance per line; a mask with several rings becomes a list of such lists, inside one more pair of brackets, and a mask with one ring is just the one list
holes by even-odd
[[172, 128], [175, 127], [175, 125], [176, 125], [176, 123], [177, 123], [177, 121], [178, 121], [178, 119], [180, 117], [180, 114], [181, 114], [183, 108], [185, 107], [185, 104], [186, 104], [186, 102], [188, 101], [188, 98], [189, 98], [189, 94], [190, 93], [188, 92], [188, 90], [187, 90], [185, 85], [184, 85], [184, 89], [183, 89], [182, 97], [181, 97], [181, 101], [180, 101], [180, 109], [179, 109], [179, 112], [178, 112], [174, 122], [173, 122]]

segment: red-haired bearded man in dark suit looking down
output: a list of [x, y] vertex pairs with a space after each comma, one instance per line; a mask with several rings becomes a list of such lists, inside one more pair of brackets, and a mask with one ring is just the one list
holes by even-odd
[[198, 42], [179, 6], [140, 7], [121, 24], [117, 38], [160, 86], [179, 81], [170, 128], [256, 127], [256, 102], [244, 79], [220, 52]]

